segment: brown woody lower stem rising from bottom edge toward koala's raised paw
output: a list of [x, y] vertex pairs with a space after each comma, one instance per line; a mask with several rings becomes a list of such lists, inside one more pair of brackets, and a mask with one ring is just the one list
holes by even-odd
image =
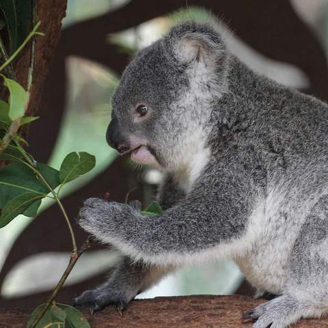
[[38, 325], [38, 323], [42, 319], [42, 316], [44, 316], [44, 314], [46, 313], [46, 311], [53, 304], [53, 301], [55, 301], [55, 298], [57, 297], [59, 290], [61, 289], [61, 287], [66, 282], [66, 279], [67, 279], [68, 275], [70, 274], [70, 271], [72, 271], [75, 263], [77, 262], [77, 260], [79, 260], [79, 258], [81, 256], [81, 254], [83, 253], [83, 251], [85, 251], [85, 249], [88, 249], [90, 247], [91, 243], [92, 243], [92, 238], [91, 237], [88, 237], [87, 240], [85, 241], [85, 243], [79, 249], [79, 251], [77, 251], [77, 253], [75, 253], [75, 254], [74, 253], [71, 254], [71, 256], [70, 256], [70, 262], [68, 264], [68, 267], [66, 268], [66, 270], [63, 273], [63, 275], [59, 279], [59, 282], [57, 283], [57, 286], [55, 287], [55, 289], [51, 293], [49, 299], [46, 301], [46, 304], [44, 305], [44, 308], [42, 308], [42, 311], [40, 311], [39, 314], [36, 316], [36, 318], [33, 321], [33, 323], [32, 323], [32, 325], [31, 325], [30, 328], [36, 328], [36, 325]]

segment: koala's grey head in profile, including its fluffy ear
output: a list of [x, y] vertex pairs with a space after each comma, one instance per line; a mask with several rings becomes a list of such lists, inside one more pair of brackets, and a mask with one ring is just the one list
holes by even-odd
[[109, 145], [141, 164], [189, 161], [206, 146], [213, 104], [228, 87], [228, 57], [219, 33], [193, 22], [140, 51], [113, 96]]

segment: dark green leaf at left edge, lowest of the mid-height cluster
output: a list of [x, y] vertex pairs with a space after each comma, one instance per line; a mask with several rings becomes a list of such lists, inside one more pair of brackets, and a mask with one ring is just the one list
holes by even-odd
[[43, 195], [26, 192], [5, 203], [5, 206], [1, 209], [0, 228], [7, 226], [8, 223], [10, 223], [10, 221], [12, 221], [17, 215], [23, 213], [27, 208], [29, 208], [29, 206], [43, 197]]

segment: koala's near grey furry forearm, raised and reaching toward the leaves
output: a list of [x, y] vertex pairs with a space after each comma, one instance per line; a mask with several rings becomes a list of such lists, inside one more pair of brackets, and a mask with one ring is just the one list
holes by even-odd
[[216, 251], [229, 251], [226, 245], [245, 234], [251, 211], [251, 197], [244, 197], [245, 193], [251, 196], [245, 183], [223, 181], [210, 193], [195, 189], [188, 199], [158, 216], [143, 215], [124, 204], [96, 199], [91, 204], [88, 200], [90, 204], [81, 210], [80, 224], [134, 260], [180, 264], [197, 260], [217, 246]]

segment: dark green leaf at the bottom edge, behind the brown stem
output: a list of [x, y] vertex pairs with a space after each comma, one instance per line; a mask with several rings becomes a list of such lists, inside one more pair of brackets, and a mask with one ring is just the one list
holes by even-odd
[[[36, 316], [42, 311], [44, 308], [44, 304], [39, 305], [36, 310], [34, 310], [29, 318], [29, 321], [27, 322], [27, 328], [31, 327], [33, 321], [35, 320]], [[51, 307], [46, 310], [46, 313], [44, 316], [42, 316], [42, 319], [39, 321], [38, 325], [36, 325], [36, 328], [62, 328], [66, 327], [66, 313], [64, 310], [61, 310], [57, 305], [51, 305]]]

